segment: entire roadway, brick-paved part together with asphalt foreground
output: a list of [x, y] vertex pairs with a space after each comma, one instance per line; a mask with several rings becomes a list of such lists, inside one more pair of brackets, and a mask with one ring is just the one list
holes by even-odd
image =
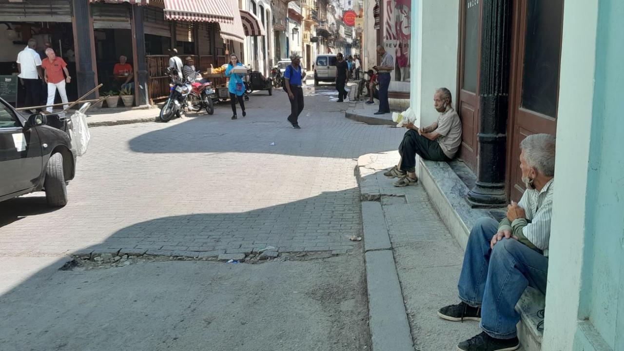
[[[301, 130], [281, 91], [252, 96], [237, 121], [217, 106], [92, 128], [66, 207], [43, 193], [2, 202], [0, 344], [370, 350], [354, 172], [402, 131], [346, 119], [331, 86], [306, 91]], [[279, 257], [263, 264], [201, 260], [269, 245]], [[117, 250], [127, 255], [112, 262]], [[59, 270], [85, 251], [100, 256]]]

